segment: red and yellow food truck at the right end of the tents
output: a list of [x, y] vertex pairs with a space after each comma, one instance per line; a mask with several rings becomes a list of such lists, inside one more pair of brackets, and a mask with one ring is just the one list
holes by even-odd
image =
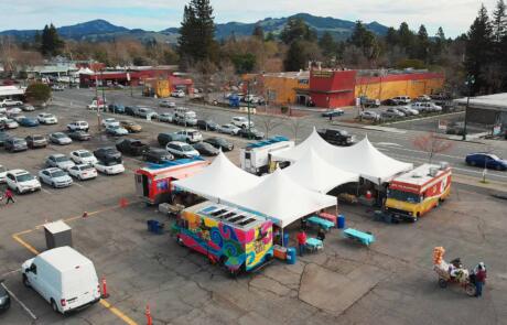
[[416, 221], [449, 197], [451, 174], [447, 163], [423, 164], [393, 178], [387, 189], [386, 210]]

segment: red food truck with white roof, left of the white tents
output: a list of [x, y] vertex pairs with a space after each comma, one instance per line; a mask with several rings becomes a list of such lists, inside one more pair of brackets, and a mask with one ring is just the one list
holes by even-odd
[[174, 189], [171, 182], [195, 175], [208, 164], [201, 158], [148, 164], [136, 171], [136, 194], [148, 204], [170, 202]]

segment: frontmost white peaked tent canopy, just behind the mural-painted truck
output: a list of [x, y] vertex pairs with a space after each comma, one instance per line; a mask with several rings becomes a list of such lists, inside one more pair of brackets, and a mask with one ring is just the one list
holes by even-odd
[[336, 197], [304, 188], [282, 170], [277, 170], [262, 177], [257, 186], [224, 197], [224, 203], [259, 213], [283, 228], [303, 216], [336, 205]]

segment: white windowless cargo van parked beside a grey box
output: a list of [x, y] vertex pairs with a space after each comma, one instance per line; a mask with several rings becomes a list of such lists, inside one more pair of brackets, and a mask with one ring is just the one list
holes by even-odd
[[41, 294], [55, 312], [65, 314], [100, 300], [94, 263], [68, 246], [25, 261], [21, 272], [24, 285]]

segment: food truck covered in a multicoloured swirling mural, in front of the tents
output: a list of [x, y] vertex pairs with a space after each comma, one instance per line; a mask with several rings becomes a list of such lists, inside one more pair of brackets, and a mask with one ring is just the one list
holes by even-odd
[[184, 209], [174, 227], [180, 245], [235, 275], [272, 259], [272, 225], [265, 217], [207, 201]]

